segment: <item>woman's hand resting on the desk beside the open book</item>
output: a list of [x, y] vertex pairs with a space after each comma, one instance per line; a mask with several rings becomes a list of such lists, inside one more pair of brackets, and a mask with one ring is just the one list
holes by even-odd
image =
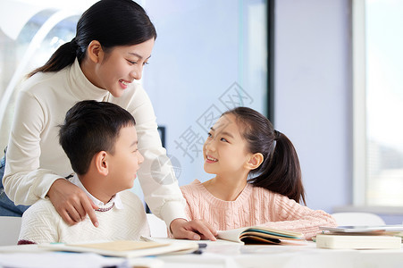
[[210, 239], [215, 241], [217, 231], [203, 220], [186, 221], [185, 219], [175, 219], [170, 226], [172, 235], [175, 239]]

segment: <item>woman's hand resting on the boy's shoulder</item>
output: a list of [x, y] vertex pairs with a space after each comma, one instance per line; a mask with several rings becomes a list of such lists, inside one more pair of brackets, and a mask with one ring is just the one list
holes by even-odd
[[87, 197], [87, 195], [69, 180], [63, 178], [55, 180], [47, 192], [52, 204], [63, 221], [73, 225], [81, 222], [88, 214], [92, 224], [98, 227], [97, 216], [94, 209], [97, 205]]

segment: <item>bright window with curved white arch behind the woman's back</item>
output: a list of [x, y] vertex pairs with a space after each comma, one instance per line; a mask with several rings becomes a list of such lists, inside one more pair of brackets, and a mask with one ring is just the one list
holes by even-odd
[[56, 11], [40, 6], [32, 8], [25, 5], [25, 9], [21, 10], [18, 3], [11, 1], [9, 4], [7, 9], [2, 7], [3, 11], [20, 13], [21, 16], [14, 17], [26, 20], [26, 23], [19, 28], [13, 20], [0, 22], [1, 151], [8, 143], [15, 97], [21, 80], [29, 71], [46, 63], [58, 46], [74, 37], [80, 16], [78, 12]]

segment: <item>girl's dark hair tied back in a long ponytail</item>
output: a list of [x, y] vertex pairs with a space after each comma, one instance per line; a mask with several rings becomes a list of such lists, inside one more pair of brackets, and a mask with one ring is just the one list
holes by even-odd
[[228, 113], [235, 115], [248, 151], [264, 156], [263, 163], [249, 172], [248, 182], [306, 205], [298, 155], [290, 139], [274, 130], [272, 122], [253, 109], [237, 107], [222, 115]]

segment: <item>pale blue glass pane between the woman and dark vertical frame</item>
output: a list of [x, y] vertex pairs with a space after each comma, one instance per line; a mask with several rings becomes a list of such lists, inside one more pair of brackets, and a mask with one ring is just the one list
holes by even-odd
[[143, 84], [180, 185], [211, 178], [201, 151], [222, 112], [267, 113], [265, 2], [145, 2], [158, 37]]

